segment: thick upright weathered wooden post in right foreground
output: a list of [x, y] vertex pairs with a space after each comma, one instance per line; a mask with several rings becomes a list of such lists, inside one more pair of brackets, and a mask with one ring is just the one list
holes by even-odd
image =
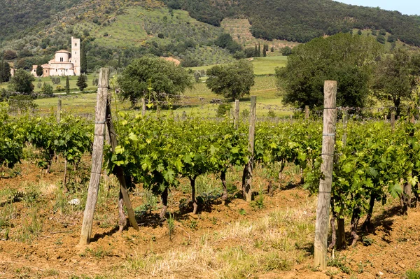
[[327, 267], [328, 221], [330, 217], [330, 199], [332, 185], [332, 165], [334, 162], [335, 122], [337, 121], [337, 81], [325, 80], [323, 140], [321, 172], [319, 181], [318, 206], [316, 208], [314, 264], [321, 270]]

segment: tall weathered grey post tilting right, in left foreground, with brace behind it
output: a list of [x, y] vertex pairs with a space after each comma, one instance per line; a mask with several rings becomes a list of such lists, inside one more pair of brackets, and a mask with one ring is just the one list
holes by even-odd
[[101, 179], [102, 157], [104, 155], [104, 134], [106, 117], [106, 100], [109, 87], [109, 69], [102, 68], [99, 72], [99, 83], [97, 93], [97, 106], [95, 111], [94, 141], [92, 152], [92, 171], [90, 173], [89, 189], [85, 213], [83, 214], [82, 232], [80, 234], [80, 245], [90, 243], [92, 235], [92, 224], [94, 207], [97, 203], [99, 192], [99, 180]]

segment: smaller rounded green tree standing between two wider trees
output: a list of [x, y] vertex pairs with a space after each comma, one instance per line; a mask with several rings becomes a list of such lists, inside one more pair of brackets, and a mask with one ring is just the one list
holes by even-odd
[[216, 65], [207, 70], [207, 87], [225, 98], [239, 99], [249, 94], [254, 85], [253, 66], [247, 60]]

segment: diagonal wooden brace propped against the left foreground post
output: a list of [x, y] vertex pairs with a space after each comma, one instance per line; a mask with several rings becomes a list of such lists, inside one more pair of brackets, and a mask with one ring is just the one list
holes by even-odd
[[[106, 103], [106, 126], [109, 131], [109, 138], [111, 139], [112, 151], [116, 150], [118, 146], [116, 130], [113, 127], [112, 117], [111, 117], [111, 98], [108, 98]], [[132, 203], [130, 201], [130, 196], [128, 195], [127, 184], [125, 182], [124, 170], [121, 166], [114, 166], [113, 174], [118, 178], [120, 183], [120, 196], [118, 202], [118, 211], [120, 213], [120, 231], [123, 231], [127, 221], [125, 220], [124, 210], [123, 210], [123, 201], [125, 203], [125, 208], [127, 208], [128, 220], [134, 229], [139, 230], [139, 225], [136, 221], [136, 216], [134, 215], [134, 210], [132, 208]]]

